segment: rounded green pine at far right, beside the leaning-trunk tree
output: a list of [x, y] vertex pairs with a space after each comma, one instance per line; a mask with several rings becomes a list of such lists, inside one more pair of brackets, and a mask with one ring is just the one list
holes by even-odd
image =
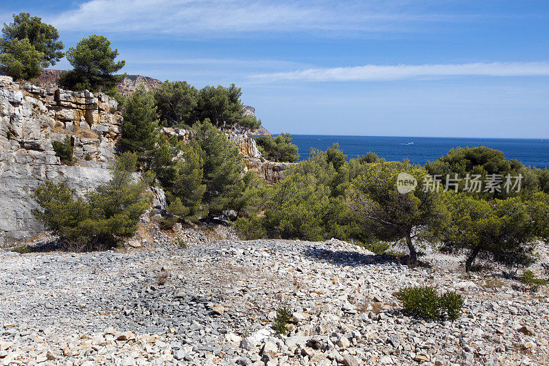
[[465, 249], [467, 271], [478, 255], [507, 266], [528, 266], [535, 260], [535, 238], [542, 226], [531, 219], [536, 207], [530, 203], [518, 197], [489, 202], [460, 193], [447, 194], [445, 205], [452, 220], [441, 233], [443, 249]]

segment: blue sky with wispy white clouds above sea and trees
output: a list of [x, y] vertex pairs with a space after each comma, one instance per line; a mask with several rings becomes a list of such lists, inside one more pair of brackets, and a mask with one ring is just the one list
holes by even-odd
[[107, 36], [126, 73], [234, 82], [274, 133], [549, 138], [546, 0], [1, 3]]

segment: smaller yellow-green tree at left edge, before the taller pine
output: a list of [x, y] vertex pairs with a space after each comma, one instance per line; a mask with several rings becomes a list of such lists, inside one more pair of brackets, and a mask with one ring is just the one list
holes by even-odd
[[0, 71], [14, 80], [38, 78], [43, 59], [44, 54], [37, 51], [27, 38], [0, 43]]

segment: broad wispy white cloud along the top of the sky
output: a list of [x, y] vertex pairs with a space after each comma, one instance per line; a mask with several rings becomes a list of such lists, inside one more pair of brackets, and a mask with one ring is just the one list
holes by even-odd
[[90, 0], [47, 18], [61, 31], [230, 36], [227, 32], [387, 32], [445, 22], [408, 2], [328, 0]]

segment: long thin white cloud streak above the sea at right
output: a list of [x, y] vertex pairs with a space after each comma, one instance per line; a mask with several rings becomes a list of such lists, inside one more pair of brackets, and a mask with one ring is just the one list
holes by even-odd
[[549, 62], [475, 62], [441, 65], [364, 65], [262, 73], [257, 81], [375, 81], [449, 76], [549, 76]]

